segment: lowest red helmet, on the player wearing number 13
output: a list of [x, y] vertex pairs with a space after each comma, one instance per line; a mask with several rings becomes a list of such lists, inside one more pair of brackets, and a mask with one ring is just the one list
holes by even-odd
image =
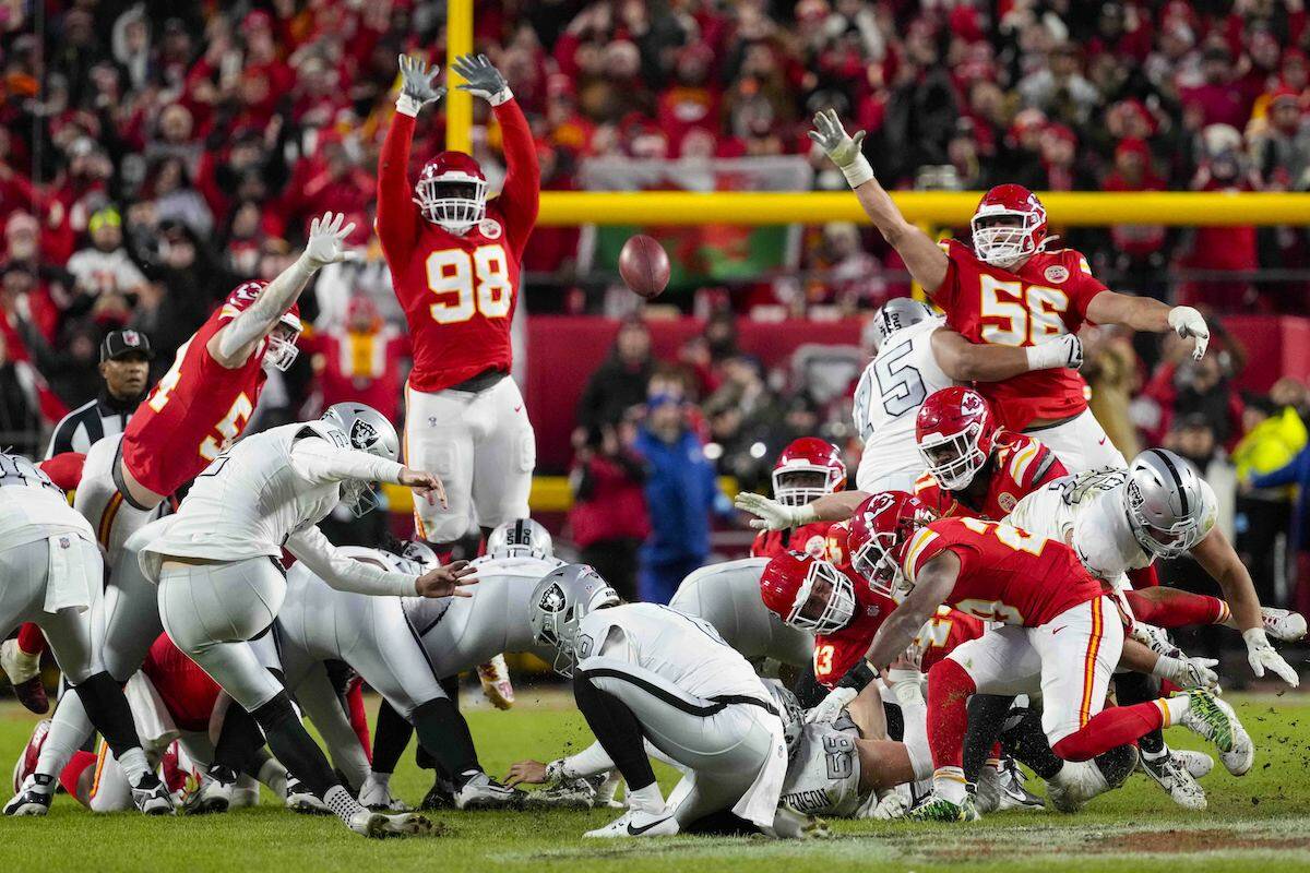
[[855, 586], [825, 560], [782, 552], [760, 576], [760, 599], [791, 627], [833, 633], [855, 616]]

